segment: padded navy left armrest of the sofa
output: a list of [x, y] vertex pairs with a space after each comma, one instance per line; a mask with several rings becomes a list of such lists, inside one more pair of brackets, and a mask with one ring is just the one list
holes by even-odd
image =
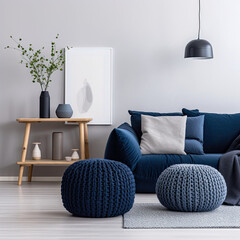
[[[128, 125], [128, 128], [131, 126]], [[140, 146], [133, 129], [129, 131], [122, 127], [111, 132], [104, 158], [125, 163], [132, 171], [141, 157]]]

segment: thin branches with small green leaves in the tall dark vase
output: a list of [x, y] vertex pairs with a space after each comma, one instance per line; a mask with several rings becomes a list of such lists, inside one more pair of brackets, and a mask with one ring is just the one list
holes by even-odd
[[[58, 39], [59, 34], [57, 34], [56, 39]], [[10, 38], [15, 42], [17, 47], [7, 46], [5, 49], [10, 48], [21, 52], [22, 60], [21, 64], [24, 64], [26, 68], [30, 70], [30, 74], [33, 77], [32, 82], [39, 83], [41, 90], [46, 91], [49, 87], [51, 75], [57, 71], [63, 71], [63, 65], [65, 63], [63, 50], [57, 50], [56, 43], [51, 42], [50, 57], [46, 58], [41, 49], [34, 50], [32, 44], [30, 43], [28, 47], [24, 47], [21, 42], [22, 39], [19, 38], [18, 41], [12, 36]], [[68, 47], [69, 49], [69, 47]]]

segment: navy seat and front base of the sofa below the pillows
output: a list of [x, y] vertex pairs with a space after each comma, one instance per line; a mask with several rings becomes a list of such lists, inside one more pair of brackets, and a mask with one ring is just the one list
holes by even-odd
[[222, 154], [204, 155], [142, 155], [138, 160], [134, 177], [137, 192], [155, 192], [155, 185], [159, 175], [174, 164], [203, 164], [218, 168], [218, 161]]

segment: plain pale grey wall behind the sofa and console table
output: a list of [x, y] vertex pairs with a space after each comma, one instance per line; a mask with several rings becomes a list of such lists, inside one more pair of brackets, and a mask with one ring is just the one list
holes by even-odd
[[[15, 176], [24, 126], [18, 117], [38, 117], [40, 87], [18, 62], [10, 35], [36, 47], [60, 34], [58, 46], [114, 48], [113, 126], [91, 126], [92, 157], [103, 157], [111, 129], [129, 121], [128, 109], [239, 112], [240, 1], [202, 0], [202, 38], [211, 42], [213, 60], [184, 59], [197, 35], [197, 0], [0, 0], [0, 176]], [[63, 101], [63, 73], [49, 89], [51, 112]], [[52, 127], [35, 125], [30, 142], [42, 142], [51, 155]], [[78, 147], [75, 127], [64, 133], [65, 154]], [[32, 146], [30, 146], [32, 147]], [[38, 167], [34, 175], [61, 175], [64, 168]]]

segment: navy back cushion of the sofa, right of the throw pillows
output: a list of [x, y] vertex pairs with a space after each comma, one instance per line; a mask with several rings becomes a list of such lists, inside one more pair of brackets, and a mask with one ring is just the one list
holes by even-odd
[[205, 153], [225, 153], [240, 133], [240, 113], [217, 114], [194, 112], [182, 109], [183, 114], [193, 117], [204, 115], [204, 140]]

